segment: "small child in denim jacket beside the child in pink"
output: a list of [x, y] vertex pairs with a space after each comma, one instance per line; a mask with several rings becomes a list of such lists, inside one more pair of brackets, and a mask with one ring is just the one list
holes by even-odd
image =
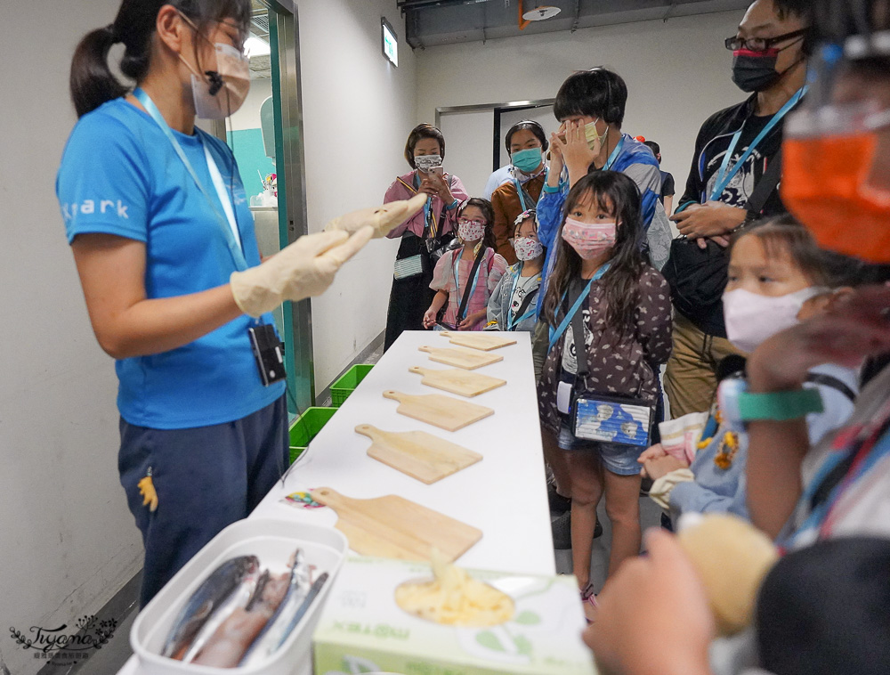
[[544, 247], [538, 240], [534, 210], [516, 216], [510, 243], [519, 262], [507, 267], [492, 292], [485, 329], [532, 332], [538, 323], [535, 307], [544, 266]]

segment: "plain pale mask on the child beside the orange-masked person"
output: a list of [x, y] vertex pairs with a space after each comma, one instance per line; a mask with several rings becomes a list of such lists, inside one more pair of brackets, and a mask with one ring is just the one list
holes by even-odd
[[766, 339], [796, 326], [797, 314], [804, 303], [825, 291], [819, 286], [810, 286], [778, 297], [761, 296], [745, 289], [724, 293], [726, 336], [734, 346], [750, 354]]

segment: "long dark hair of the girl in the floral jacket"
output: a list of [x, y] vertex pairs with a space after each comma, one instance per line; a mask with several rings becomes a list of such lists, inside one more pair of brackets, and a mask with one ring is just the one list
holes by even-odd
[[572, 279], [581, 275], [581, 256], [562, 239], [565, 215], [587, 199], [615, 216], [618, 229], [612, 247], [609, 271], [603, 274], [606, 302], [606, 321], [623, 334], [633, 329], [634, 313], [639, 305], [640, 275], [646, 266], [640, 243], [643, 239], [643, 220], [640, 216], [640, 191], [630, 178], [614, 171], [595, 171], [581, 178], [571, 188], [563, 207], [562, 224], [556, 244], [556, 264], [544, 297], [544, 319], [555, 326], [561, 310], [562, 297]]

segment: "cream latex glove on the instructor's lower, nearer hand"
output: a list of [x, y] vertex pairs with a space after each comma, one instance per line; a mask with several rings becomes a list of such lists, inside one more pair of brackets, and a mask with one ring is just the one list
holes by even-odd
[[271, 312], [285, 300], [320, 296], [336, 271], [371, 240], [374, 230], [307, 234], [282, 248], [263, 264], [229, 278], [235, 304], [249, 316]]

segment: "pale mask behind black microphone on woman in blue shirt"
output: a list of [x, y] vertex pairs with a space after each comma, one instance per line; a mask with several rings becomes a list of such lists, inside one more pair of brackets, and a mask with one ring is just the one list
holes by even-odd
[[[189, 61], [180, 60], [191, 70], [191, 95], [195, 114], [202, 119], [225, 119], [234, 114], [250, 91], [250, 61], [231, 45], [215, 43], [216, 69], [198, 73]], [[208, 81], [209, 80], [209, 81]]]

